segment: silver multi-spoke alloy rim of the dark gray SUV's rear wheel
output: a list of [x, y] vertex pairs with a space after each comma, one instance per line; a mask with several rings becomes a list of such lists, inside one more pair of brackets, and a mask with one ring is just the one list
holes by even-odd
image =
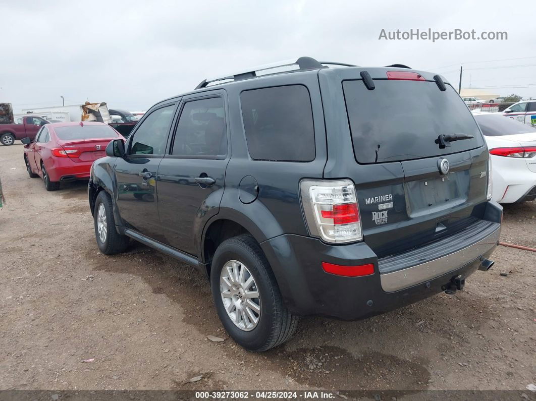
[[242, 262], [230, 260], [220, 273], [221, 300], [229, 319], [236, 327], [251, 331], [260, 320], [260, 297], [257, 283]]

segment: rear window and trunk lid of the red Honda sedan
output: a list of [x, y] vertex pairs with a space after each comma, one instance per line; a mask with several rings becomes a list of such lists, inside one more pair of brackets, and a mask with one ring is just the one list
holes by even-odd
[[58, 145], [67, 156], [77, 163], [92, 162], [106, 156], [106, 146], [121, 138], [115, 130], [106, 124], [83, 124], [56, 127]]

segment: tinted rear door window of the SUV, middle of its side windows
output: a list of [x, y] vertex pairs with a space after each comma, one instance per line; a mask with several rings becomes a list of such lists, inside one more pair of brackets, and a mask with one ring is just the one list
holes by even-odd
[[225, 156], [227, 126], [222, 97], [194, 100], [184, 104], [178, 120], [173, 155]]

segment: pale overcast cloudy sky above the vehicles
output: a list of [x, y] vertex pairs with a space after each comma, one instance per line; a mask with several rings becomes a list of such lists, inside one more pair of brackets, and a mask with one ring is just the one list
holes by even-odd
[[[207, 76], [311, 56], [407, 64], [462, 87], [536, 98], [533, 1], [0, 0], [0, 102], [103, 101], [145, 110]], [[409, 29], [505, 31], [508, 40], [378, 40]], [[493, 61], [491, 61], [493, 60]]]

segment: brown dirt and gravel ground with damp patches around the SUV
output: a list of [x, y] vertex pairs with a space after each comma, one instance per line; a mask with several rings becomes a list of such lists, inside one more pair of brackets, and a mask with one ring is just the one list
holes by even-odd
[[[536, 383], [532, 252], [498, 247], [492, 270], [475, 273], [455, 296], [358, 322], [302, 319], [291, 341], [255, 354], [228, 337], [197, 270], [134, 242], [121, 255], [99, 253], [86, 183], [47, 192], [28, 177], [20, 143], [0, 146], [0, 180], [0, 389], [533, 396], [525, 390]], [[535, 215], [536, 202], [505, 206], [502, 240], [536, 247]]]

